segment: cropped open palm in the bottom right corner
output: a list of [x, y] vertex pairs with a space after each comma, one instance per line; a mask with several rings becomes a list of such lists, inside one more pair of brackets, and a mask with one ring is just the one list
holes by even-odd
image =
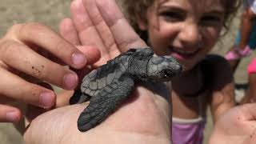
[[210, 144], [256, 142], [256, 103], [235, 106], [222, 114], [210, 136]]

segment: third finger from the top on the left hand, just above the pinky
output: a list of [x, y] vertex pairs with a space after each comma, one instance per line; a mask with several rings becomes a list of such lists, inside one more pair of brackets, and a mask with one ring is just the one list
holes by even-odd
[[26, 82], [2, 68], [0, 74], [0, 95], [43, 108], [54, 106], [56, 96], [52, 90]]

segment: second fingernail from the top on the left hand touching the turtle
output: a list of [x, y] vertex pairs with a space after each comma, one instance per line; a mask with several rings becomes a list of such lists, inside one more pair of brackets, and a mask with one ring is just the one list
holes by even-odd
[[78, 76], [76, 74], [66, 74], [64, 76], [64, 86], [68, 90], [72, 90], [77, 86], [78, 83]]

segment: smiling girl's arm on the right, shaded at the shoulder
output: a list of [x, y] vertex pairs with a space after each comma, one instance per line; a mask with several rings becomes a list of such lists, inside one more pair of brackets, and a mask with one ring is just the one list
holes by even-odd
[[220, 56], [210, 58], [213, 82], [211, 85], [210, 109], [214, 122], [219, 115], [235, 105], [234, 81], [230, 64]]

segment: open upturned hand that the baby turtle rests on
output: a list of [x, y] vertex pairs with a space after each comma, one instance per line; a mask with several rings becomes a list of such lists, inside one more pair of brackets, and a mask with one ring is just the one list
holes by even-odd
[[[130, 47], [146, 46], [114, 0], [84, 0], [83, 3], [75, 0], [71, 12], [74, 25], [70, 20], [66, 22], [74, 26], [70, 30], [73, 36], [62, 34], [70, 35], [66, 37], [70, 41], [79, 39], [78, 44], [99, 48], [102, 58], [95, 66]], [[27, 143], [170, 143], [170, 106], [166, 101], [170, 93], [162, 85], [148, 87], [150, 90], [137, 86], [130, 99], [114, 114], [85, 133], [78, 130], [77, 120], [88, 103], [65, 106], [38, 116], [27, 128], [24, 138]]]

